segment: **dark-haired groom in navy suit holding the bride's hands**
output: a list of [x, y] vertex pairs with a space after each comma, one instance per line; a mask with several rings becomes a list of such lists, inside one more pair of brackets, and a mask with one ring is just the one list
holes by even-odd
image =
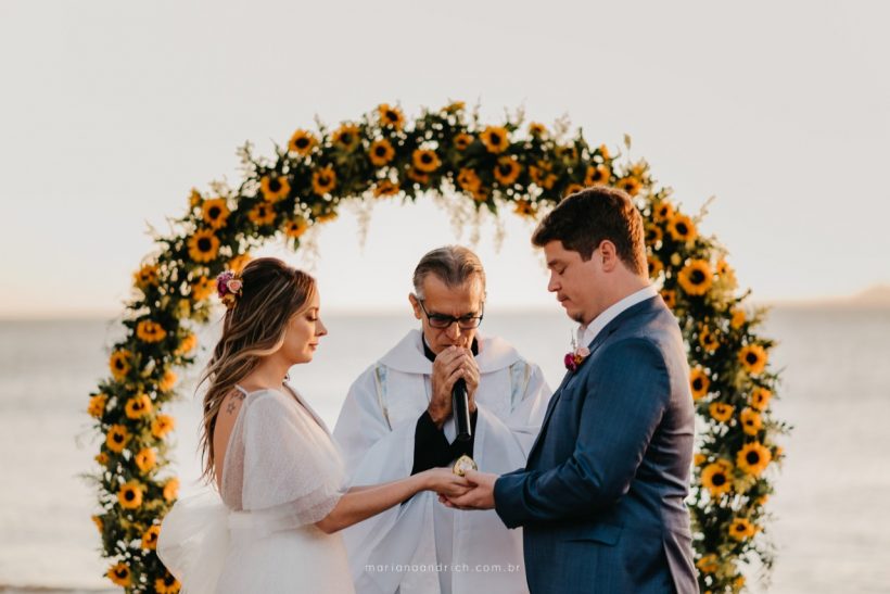
[[698, 592], [689, 514], [694, 410], [683, 338], [650, 285], [643, 220], [620, 190], [562, 201], [532, 242], [581, 325], [525, 469], [469, 471], [448, 506], [523, 527], [533, 594]]

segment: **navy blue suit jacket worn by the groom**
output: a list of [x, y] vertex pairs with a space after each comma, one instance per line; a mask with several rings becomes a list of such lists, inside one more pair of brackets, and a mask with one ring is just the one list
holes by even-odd
[[694, 409], [660, 296], [622, 312], [550, 400], [524, 470], [495, 483], [523, 527], [533, 594], [698, 592], [688, 493]]

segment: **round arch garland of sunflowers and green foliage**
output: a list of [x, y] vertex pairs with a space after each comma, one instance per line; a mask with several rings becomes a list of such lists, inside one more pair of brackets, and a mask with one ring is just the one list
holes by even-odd
[[[625, 139], [630, 149], [630, 140]], [[168, 469], [177, 367], [194, 361], [194, 325], [211, 315], [215, 276], [239, 270], [251, 248], [283, 235], [296, 249], [303, 233], [336, 217], [347, 201], [444, 191], [476, 210], [512, 208], [537, 218], [563, 197], [606, 184], [626, 190], [646, 220], [649, 268], [683, 328], [691, 368], [699, 435], [690, 497], [696, 565], [702, 591], [743, 587], [741, 568], [768, 568], [759, 536], [773, 491], [771, 467], [787, 427], [770, 410], [777, 375], [767, 365], [773, 342], [755, 330], [762, 312], [746, 305], [724, 250], [698, 231], [700, 216], [683, 213], [671, 190], [656, 185], [645, 161], [588, 143], [568, 123], [481, 122], [457, 102], [408, 121], [380, 105], [336, 129], [296, 130], [271, 159], [241, 156], [238, 188], [192, 190], [188, 210], [135, 274], [126, 304], [126, 337], [111, 353], [110, 377], [90, 394], [101, 446], [96, 456], [100, 511], [93, 521], [111, 560], [107, 577], [127, 592], [173, 593], [179, 584], [155, 554], [161, 519], [177, 497]]]

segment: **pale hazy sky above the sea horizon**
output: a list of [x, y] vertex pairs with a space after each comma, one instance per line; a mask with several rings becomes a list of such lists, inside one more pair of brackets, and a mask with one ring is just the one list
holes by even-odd
[[[0, 317], [115, 314], [189, 190], [239, 181], [316, 116], [479, 102], [568, 115], [646, 157], [761, 301], [890, 283], [890, 8], [881, 2], [0, 3]], [[367, 216], [367, 208], [365, 214]], [[332, 309], [404, 306], [468, 242], [427, 197], [344, 213], [288, 254]], [[531, 227], [483, 222], [490, 306], [554, 307]], [[499, 249], [498, 249], [499, 248]], [[269, 253], [283, 253], [269, 245]]]

